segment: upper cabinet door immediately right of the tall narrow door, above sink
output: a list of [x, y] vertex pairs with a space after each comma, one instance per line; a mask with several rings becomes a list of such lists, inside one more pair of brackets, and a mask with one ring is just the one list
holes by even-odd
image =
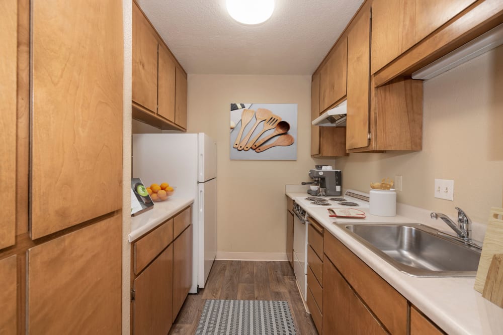
[[372, 74], [414, 45], [415, 3], [416, 0], [372, 3]]

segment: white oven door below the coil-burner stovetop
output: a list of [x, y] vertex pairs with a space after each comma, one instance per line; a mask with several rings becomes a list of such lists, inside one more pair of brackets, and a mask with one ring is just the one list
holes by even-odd
[[293, 218], [293, 270], [302, 298], [307, 294], [307, 225], [297, 215]]

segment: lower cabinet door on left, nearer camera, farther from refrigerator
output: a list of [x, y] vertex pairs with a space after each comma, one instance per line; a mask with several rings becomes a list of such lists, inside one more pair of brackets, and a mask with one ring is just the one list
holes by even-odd
[[135, 334], [165, 335], [173, 323], [173, 244], [134, 281]]

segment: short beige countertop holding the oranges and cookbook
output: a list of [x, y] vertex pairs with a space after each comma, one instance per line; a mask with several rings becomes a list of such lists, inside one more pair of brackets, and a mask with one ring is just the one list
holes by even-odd
[[131, 233], [128, 241], [131, 243], [143, 234], [159, 226], [188, 205], [194, 202], [194, 198], [169, 197], [165, 201], [154, 202], [154, 207], [131, 218]]

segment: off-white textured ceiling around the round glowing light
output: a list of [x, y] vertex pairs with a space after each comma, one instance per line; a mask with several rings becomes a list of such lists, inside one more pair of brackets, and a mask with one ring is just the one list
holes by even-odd
[[138, 0], [188, 73], [312, 74], [363, 0], [276, 0], [273, 16], [245, 26], [225, 0]]

